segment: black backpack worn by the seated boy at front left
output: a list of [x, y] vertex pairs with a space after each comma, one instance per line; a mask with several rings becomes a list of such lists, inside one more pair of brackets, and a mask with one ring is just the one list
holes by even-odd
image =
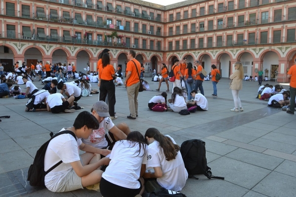
[[65, 130], [65, 131], [58, 132], [55, 135], [53, 135], [53, 132], [50, 132], [51, 138], [47, 142], [45, 142], [37, 150], [34, 162], [30, 166], [29, 171], [28, 171], [27, 181], [30, 182], [31, 186], [45, 186], [45, 184], [44, 184], [45, 175], [48, 174], [54, 168], [56, 168], [59, 164], [63, 163], [62, 161], [60, 161], [57, 164], [55, 164], [54, 166], [52, 166], [51, 168], [49, 168], [46, 172], [44, 171], [44, 157], [45, 157], [45, 152], [46, 152], [49, 142], [53, 138], [55, 138], [56, 136], [61, 135], [61, 134], [66, 134], [66, 133], [71, 134], [76, 140], [76, 136], [75, 136], [74, 132], [72, 132], [72, 131]]

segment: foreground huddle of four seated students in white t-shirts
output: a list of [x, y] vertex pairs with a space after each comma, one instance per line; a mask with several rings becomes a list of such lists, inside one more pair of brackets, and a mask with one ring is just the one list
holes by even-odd
[[[104, 197], [135, 197], [144, 192], [144, 179], [154, 179], [169, 190], [181, 191], [188, 173], [174, 139], [149, 128], [145, 136], [130, 131], [125, 123], [114, 125], [104, 101], [93, 105], [91, 113], [78, 114], [72, 131], [48, 144], [44, 170], [45, 186], [52, 192], [69, 192], [100, 183]], [[109, 130], [109, 131], [108, 131]], [[79, 155], [79, 150], [85, 153]], [[105, 172], [101, 170], [107, 165]]]

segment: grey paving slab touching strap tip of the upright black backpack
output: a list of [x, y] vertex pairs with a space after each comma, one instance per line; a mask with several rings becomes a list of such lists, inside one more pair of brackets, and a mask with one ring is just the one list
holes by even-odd
[[270, 173], [268, 169], [226, 157], [221, 157], [208, 165], [211, 166], [213, 175], [225, 177], [226, 181], [248, 189], [253, 188]]

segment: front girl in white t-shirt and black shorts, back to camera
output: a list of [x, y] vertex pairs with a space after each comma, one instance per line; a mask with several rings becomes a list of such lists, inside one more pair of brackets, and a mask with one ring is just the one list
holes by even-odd
[[144, 192], [147, 145], [139, 131], [130, 132], [126, 140], [117, 141], [111, 162], [102, 175], [101, 194], [104, 197], [134, 197]]

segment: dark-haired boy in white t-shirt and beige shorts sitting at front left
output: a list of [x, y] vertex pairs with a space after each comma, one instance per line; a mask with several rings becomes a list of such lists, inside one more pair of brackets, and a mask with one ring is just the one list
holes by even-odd
[[[44, 170], [47, 171], [60, 161], [63, 163], [45, 175], [44, 183], [48, 190], [70, 192], [101, 181], [103, 171], [100, 167], [108, 165], [109, 158], [100, 159], [100, 154], [106, 156], [111, 151], [94, 148], [81, 141], [81, 138], [87, 138], [94, 129], [98, 129], [98, 121], [90, 113], [83, 111], [76, 117], [73, 127], [61, 130], [72, 131], [76, 138], [66, 133], [49, 142], [44, 157]], [[79, 156], [79, 150], [85, 153]]]

